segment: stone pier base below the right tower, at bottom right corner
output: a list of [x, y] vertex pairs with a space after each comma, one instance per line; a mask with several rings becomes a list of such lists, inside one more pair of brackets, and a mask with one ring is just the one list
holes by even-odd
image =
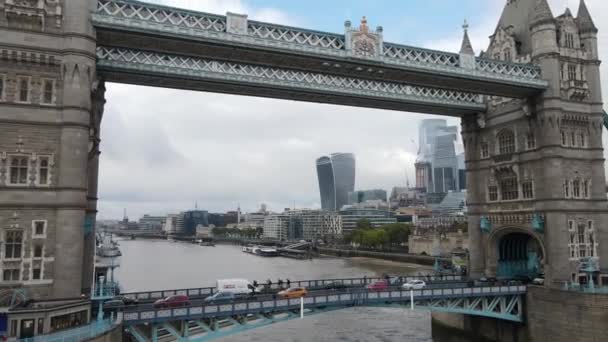
[[529, 286], [525, 323], [463, 314], [432, 313], [433, 322], [474, 340], [497, 342], [608, 341], [608, 294]]

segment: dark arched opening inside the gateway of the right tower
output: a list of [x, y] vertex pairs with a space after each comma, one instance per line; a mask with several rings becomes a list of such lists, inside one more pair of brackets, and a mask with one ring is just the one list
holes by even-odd
[[543, 273], [543, 249], [526, 233], [509, 233], [498, 240], [498, 277], [536, 278]]

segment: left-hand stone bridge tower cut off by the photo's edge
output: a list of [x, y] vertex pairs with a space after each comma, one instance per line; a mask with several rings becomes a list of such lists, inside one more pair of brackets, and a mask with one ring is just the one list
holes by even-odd
[[95, 2], [0, 0], [0, 284], [29, 298], [76, 297], [92, 283]]

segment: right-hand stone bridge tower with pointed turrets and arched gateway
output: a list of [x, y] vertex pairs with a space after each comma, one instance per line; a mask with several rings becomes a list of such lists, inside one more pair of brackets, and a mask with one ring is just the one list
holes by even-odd
[[584, 0], [576, 17], [507, 1], [484, 56], [540, 65], [549, 89], [463, 119], [473, 274], [545, 273], [557, 287], [583, 260], [608, 268], [597, 32]]

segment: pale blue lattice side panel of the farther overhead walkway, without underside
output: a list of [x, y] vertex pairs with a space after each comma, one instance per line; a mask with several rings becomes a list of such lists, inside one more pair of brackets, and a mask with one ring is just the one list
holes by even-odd
[[428, 105], [446, 105], [469, 110], [485, 110], [478, 94], [383, 82], [250, 64], [231, 63], [124, 48], [97, 48], [101, 69], [130, 69], [167, 76], [198, 77], [205, 80], [271, 85], [293, 90], [305, 89], [358, 95]]

